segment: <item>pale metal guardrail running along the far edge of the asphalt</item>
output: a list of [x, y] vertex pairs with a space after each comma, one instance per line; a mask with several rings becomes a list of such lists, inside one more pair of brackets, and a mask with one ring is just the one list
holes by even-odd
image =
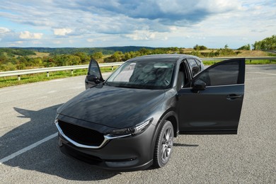
[[[223, 61], [227, 59], [235, 59], [237, 57], [212, 57], [212, 58], [201, 58], [202, 61]], [[244, 57], [247, 60], [276, 60], [276, 57]], [[115, 67], [120, 66], [124, 62], [112, 62], [112, 63], [105, 63], [99, 64], [99, 67]], [[37, 74], [37, 73], [47, 73], [49, 77], [50, 71], [64, 71], [64, 70], [71, 70], [71, 74], [73, 74], [74, 69], [87, 69], [88, 64], [84, 65], [75, 65], [75, 66], [67, 66], [67, 67], [50, 67], [50, 68], [42, 68], [42, 69], [23, 69], [23, 70], [16, 70], [16, 71], [1, 71], [1, 76], [18, 76], [18, 80], [21, 79], [21, 75], [25, 74]]]

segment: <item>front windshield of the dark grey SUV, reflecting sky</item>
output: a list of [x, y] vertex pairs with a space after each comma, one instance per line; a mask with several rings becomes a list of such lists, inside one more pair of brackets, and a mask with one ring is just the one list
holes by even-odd
[[105, 83], [122, 88], [166, 89], [171, 87], [175, 62], [134, 60], [125, 62]]

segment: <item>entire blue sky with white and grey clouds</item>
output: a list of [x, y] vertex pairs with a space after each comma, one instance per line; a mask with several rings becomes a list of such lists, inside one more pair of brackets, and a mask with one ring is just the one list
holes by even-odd
[[236, 49], [276, 35], [276, 0], [0, 0], [0, 47]]

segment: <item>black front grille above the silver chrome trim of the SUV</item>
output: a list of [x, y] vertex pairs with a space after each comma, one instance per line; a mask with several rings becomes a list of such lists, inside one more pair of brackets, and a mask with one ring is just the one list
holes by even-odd
[[96, 130], [73, 125], [69, 122], [63, 122], [59, 120], [59, 127], [67, 137], [79, 144], [100, 146], [100, 144], [102, 144], [103, 140], [105, 139], [103, 134], [100, 134], [100, 132], [97, 132]]

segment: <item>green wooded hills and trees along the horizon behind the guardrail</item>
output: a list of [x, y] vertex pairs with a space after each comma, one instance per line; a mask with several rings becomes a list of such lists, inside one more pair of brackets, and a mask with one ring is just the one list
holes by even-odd
[[[276, 35], [256, 41], [253, 50], [276, 50]], [[108, 48], [108, 50], [105, 50]], [[32, 50], [33, 49], [33, 50]], [[61, 67], [68, 65], [88, 64], [93, 58], [98, 62], [125, 62], [127, 59], [146, 54], [192, 54], [197, 57], [226, 57], [241, 53], [239, 50], [251, 50], [251, 45], [243, 45], [238, 50], [229, 49], [228, 45], [218, 50], [209, 50], [204, 45], [195, 45], [192, 51], [184, 48], [166, 47], [105, 47], [103, 48], [0, 48], [0, 71], [30, 69], [36, 67]], [[35, 57], [34, 51], [51, 50], [49, 56]], [[103, 53], [103, 50], [105, 52]], [[110, 52], [110, 50], [113, 50]], [[115, 51], [114, 51], [115, 50]], [[83, 51], [83, 52], [81, 52]], [[110, 56], [103, 56], [108, 53]]]

